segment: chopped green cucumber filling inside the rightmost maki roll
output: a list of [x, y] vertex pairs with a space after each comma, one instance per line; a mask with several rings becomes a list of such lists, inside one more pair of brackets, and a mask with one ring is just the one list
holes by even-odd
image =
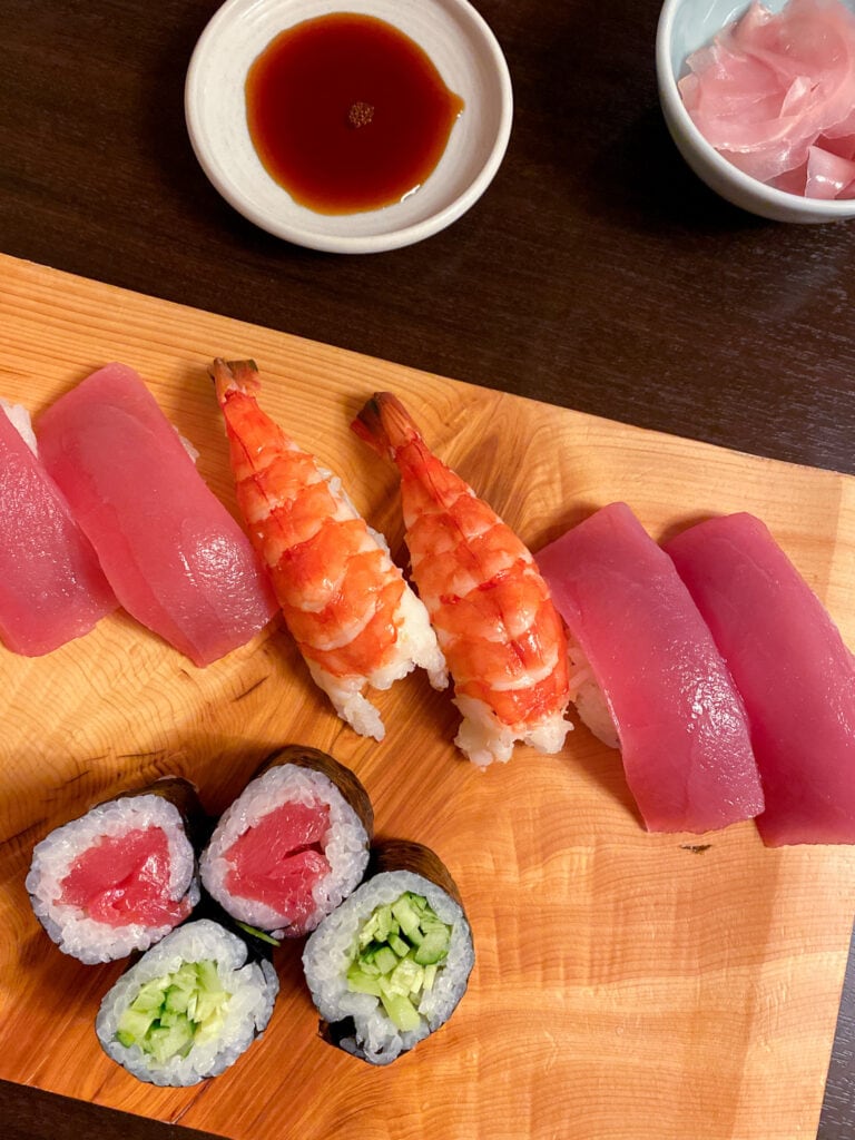
[[363, 923], [348, 988], [378, 997], [402, 1032], [415, 1029], [422, 1020], [418, 1002], [432, 988], [450, 940], [451, 927], [437, 918], [426, 898], [407, 890]]

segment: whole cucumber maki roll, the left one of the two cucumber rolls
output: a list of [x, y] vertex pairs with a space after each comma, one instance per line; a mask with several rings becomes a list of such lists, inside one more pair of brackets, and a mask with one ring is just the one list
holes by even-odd
[[95, 1028], [114, 1061], [150, 1084], [197, 1084], [222, 1073], [270, 1020], [276, 970], [211, 919], [187, 922], [127, 970]]

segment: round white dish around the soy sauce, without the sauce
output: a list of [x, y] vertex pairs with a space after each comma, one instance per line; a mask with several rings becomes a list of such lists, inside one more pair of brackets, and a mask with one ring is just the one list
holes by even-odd
[[[334, 11], [393, 24], [415, 40], [464, 100], [424, 185], [381, 210], [321, 214], [298, 205], [261, 164], [246, 124], [244, 83], [255, 57], [286, 28]], [[466, 0], [228, 0], [190, 59], [185, 114], [202, 169], [250, 221], [309, 249], [376, 253], [430, 237], [478, 201], [504, 157], [513, 97], [502, 49]]]

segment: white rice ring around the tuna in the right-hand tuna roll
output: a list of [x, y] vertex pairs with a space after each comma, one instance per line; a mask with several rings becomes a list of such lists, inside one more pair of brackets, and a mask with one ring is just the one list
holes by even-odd
[[323, 772], [282, 764], [246, 785], [221, 816], [202, 855], [202, 882], [233, 918], [262, 930], [271, 930], [276, 937], [287, 933], [291, 925], [287, 914], [228, 889], [226, 878], [231, 864], [225, 856], [245, 831], [276, 808], [285, 804], [312, 807], [318, 803], [329, 809], [329, 828], [321, 840], [329, 871], [312, 888], [315, 910], [301, 930], [314, 930], [324, 915], [334, 910], [361, 880], [368, 865], [369, 837], [357, 813]]

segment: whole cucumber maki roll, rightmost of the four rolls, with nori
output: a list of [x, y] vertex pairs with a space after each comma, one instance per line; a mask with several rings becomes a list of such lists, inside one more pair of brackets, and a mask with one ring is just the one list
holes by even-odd
[[366, 881], [311, 935], [303, 970], [321, 1036], [389, 1065], [448, 1020], [474, 960], [447, 869], [427, 847], [396, 840], [374, 848]]

